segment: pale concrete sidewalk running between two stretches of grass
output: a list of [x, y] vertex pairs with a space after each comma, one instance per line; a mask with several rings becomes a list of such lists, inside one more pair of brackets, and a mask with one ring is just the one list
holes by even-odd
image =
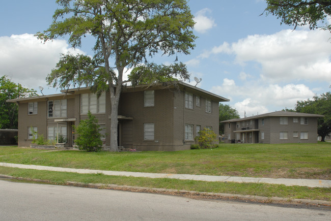
[[238, 177], [238, 176], [208, 176], [208, 175], [190, 175], [190, 174], [166, 174], [166, 173], [140, 173], [140, 172], [125, 172], [125, 171], [105, 171], [105, 170], [88, 170], [88, 169], [72, 169], [62, 167], [46, 167], [36, 165], [9, 164], [0, 163], [3, 167], [15, 167], [22, 169], [33, 170], [48, 170], [58, 172], [72, 172], [82, 174], [102, 173], [110, 176], [132, 176], [132, 177], [147, 177], [147, 178], [170, 178], [170, 179], [188, 179], [211, 182], [239, 182], [239, 183], [269, 183], [269, 184], [284, 184], [287, 186], [309, 186], [309, 187], [331, 187], [331, 180], [318, 179], [285, 179], [285, 178], [257, 178], [257, 177]]

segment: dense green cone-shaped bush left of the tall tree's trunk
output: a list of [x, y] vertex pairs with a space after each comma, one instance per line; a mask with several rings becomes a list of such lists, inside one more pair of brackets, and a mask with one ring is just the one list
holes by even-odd
[[99, 151], [102, 147], [102, 134], [100, 134], [100, 125], [98, 125], [98, 120], [95, 118], [91, 112], [88, 112], [88, 119], [81, 120], [77, 127], [74, 127], [78, 138], [75, 143], [79, 149], [91, 151]]

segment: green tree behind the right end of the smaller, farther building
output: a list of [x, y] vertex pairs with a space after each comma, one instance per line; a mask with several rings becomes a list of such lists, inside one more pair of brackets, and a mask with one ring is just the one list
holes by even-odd
[[325, 141], [325, 136], [331, 133], [331, 92], [314, 96], [313, 100], [297, 101], [295, 110], [301, 113], [324, 115], [318, 118], [317, 133], [321, 136], [321, 141]]

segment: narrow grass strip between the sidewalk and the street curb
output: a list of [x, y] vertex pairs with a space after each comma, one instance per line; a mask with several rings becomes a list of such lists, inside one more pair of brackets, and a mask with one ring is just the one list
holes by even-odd
[[78, 174], [54, 171], [39, 171], [0, 167], [0, 174], [14, 177], [41, 179], [53, 184], [67, 181], [82, 183], [103, 183], [129, 186], [144, 186], [210, 193], [241, 194], [292, 199], [326, 200], [331, 198], [331, 188], [311, 188], [305, 186], [285, 186], [264, 183], [204, 182], [169, 178], [151, 179], [142, 177], [107, 176], [103, 174]]

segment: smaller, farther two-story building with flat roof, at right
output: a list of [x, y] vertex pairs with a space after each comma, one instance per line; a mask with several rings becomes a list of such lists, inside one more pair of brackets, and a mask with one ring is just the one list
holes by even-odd
[[224, 120], [226, 143], [316, 143], [318, 114], [275, 111]]

